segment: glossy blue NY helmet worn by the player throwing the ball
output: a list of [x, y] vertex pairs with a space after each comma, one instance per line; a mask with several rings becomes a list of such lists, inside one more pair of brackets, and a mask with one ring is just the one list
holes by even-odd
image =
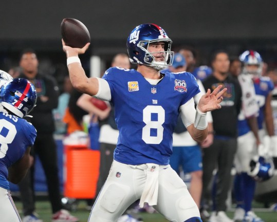
[[[164, 61], [156, 62], [153, 53], [148, 47], [151, 43], [163, 42]], [[157, 70], [162, 70], [165, 66], [172, 65], [174, 52], [171, 51], [172, 41], [167, 33], [156, 24], [143, 24], [137, 26], [127, 39], [127, 51], [131, 63], [151, 66]], [[157, 53], [157, 52], [155, 52]]]

